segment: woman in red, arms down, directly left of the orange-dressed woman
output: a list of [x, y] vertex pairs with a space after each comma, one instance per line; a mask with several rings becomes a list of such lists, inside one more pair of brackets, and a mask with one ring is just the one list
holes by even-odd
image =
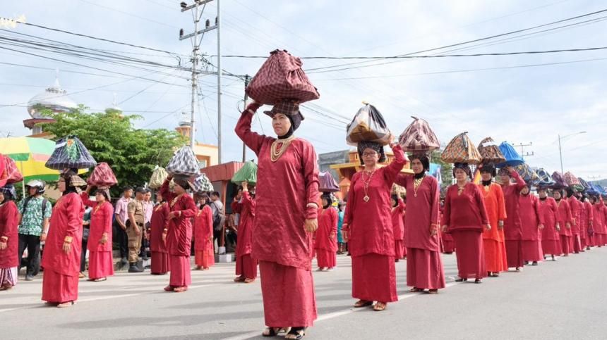
[[481, 283], [481, 279], [487, 276], [483, 226], [487, 230], [492, 226], [489, 225], [481, 189], [469, 182], [471, 170], [468, 164], [455, 163], [453, 175], [457, 182], [447, 189], [442, 224], [443, 232], [452, 234], [457, 248], [459, 279], [455, 281], [467, 281], [474, 275], [474, 283]]

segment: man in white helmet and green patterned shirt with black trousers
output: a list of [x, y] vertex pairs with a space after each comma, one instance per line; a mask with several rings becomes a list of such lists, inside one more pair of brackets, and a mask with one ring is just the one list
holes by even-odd
[[32, 281], [40, 271], [40, 241], [47, 239], [52, 205], [42, 197], [46, 183], [32, 180], [25, 186], [29, 196], [19, 202], [19, 258], [28, 248], [25, 281]]

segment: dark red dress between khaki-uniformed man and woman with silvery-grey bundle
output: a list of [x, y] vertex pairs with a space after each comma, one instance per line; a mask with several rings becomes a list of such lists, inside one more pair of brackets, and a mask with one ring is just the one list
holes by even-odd
[[150, 220], [150, 252], [152, 263], [150, 272], [154, 275], [167, 274], [169, 272], [169, 251], [167, 244], [162, 240], [162, 232], [168, 225], [169, 203], [158, 203], [152, 211]]

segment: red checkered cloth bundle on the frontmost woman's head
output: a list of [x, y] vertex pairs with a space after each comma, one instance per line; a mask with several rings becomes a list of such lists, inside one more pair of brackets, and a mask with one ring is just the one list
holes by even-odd
[[320, 98], [301, 65], [301, 59], [287, 51], [270, 52], [270, 57], [246, 87], [246, 94], [268, 105], [274, 105], [280, 99], [296, 99], [303, 103]]

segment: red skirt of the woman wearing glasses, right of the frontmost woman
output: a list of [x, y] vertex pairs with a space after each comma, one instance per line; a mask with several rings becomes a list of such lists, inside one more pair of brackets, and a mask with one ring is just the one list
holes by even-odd
[[394, 256], [352, 256], [352, 297], [365, 301], [398, 301]]

